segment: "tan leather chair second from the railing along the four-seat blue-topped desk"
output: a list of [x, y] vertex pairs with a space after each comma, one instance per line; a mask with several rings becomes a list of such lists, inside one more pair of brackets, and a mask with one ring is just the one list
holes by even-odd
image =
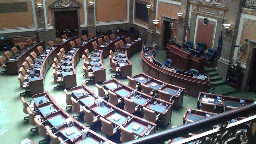
[[119, 126], [117, 126], [116, 128], [114, 128], [112, 122], [105, 120], [104, 118], [100, 117], [100, 121], [102, 122], [102, 126], [101, 126], [101, 132], [103, 134], [105, 134], [106, 136], [113, 136], [114, 134], [116, 134], [117, 128]]

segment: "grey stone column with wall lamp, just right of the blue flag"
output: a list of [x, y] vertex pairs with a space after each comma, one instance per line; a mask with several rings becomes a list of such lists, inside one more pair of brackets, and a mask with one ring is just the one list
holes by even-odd
[[230, 64], [233, 62], [235, 50], [233, 45], [236, 44], [239, 22], [242, 13], [241, 7], [244, 7], [244, 4], [244, 0], [231, 0], [227, 20], [224, 22], [224, 24], [231, 24], [232, 26], [228, 29], [227, 32], [224, 28], [222, 30], [223, 43], [222, 50], [220, 51], [220, 58], [217, 61], [217, 72], [223, 80], [226, 80], [228, 66], [230, 66]]

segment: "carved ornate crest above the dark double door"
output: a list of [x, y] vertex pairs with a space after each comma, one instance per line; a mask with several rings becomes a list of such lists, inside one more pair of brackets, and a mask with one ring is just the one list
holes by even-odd
[[49, 8], [80, 8], [82, 4], [76, 0], [56, 0]]

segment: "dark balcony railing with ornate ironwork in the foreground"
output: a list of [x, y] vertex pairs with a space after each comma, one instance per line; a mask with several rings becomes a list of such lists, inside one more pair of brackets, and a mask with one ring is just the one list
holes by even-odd
[[[220, 124], [221, 127], [210, 130], [208, 132], [204, 132], [202, 134], [198, 134], [196, 136], [192, 136], [190, 138], [186, 138], [182, 141], [176, 142], [175, 144], [187, 144], [196, 140], [200, 140], [200, 144], [217, 144], [217, 142], [220, 144], [224, 144], [224, 142], [226, 142], [225, 144], [241, 144], [243, 142], [245, 142], [245, 144], [254, 144], [256, 140], [252, 140], [252, 127], [254, 127], [254, 129], [256, 128], [256, 124], [254, 124], [254, 122], [256, 122], [256, 115], [242, 119], [232, 124], [228, 124], [228, 120], [245, 116], [255, 111], [256, 101], [234, 110], [210, 116], [208, 118], [204, 118], [192, 123], [177, 126], [175, 128], [151, 134], [146, 137], [138, 138], [136, 140], [126, 142], [125, 144], [158, 144], [160, 142], [166, 142], [170, 139], [178, 138], [188, 133], [192, 133], [194, 131], [208, 128], [217, 124]], [[241, 129], [244, 129], [243, 131], [245, 132], [245, 135], [242, 136], [242, 142], [240, 141], [240, 135], [243, 135], [243, 133], [240, 131]], [[226, 138], [228, 135], [232, 136], [227, 140]]]

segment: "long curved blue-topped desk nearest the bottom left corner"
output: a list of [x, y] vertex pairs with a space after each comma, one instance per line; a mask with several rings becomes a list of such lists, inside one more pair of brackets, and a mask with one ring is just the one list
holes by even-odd
[[[81, 130], [86, 129], [87, 127], [63, 110], [52, 98], [49, 92], [46, 91], [44, 93], [36, 94], [32, 99], [34, 100], [38, 112], [43, 116], [40, 121], [43, 122], [44, 120], [47, 120], [45, 122], [53, 128], [53, 133], [63, 140], [66, 140], [68, 144], [99, 144], [100, 141], [105, 142], [106, 144], [115, 144], [90, 129], [87, 133], [88, 137], [82, 139]], [[74, 121], [73, 126], [68, 126], [66, 122], [67, 118]], [[74, 134], [67, 136], [66, 131], [71, 129], [74, 130]]]

